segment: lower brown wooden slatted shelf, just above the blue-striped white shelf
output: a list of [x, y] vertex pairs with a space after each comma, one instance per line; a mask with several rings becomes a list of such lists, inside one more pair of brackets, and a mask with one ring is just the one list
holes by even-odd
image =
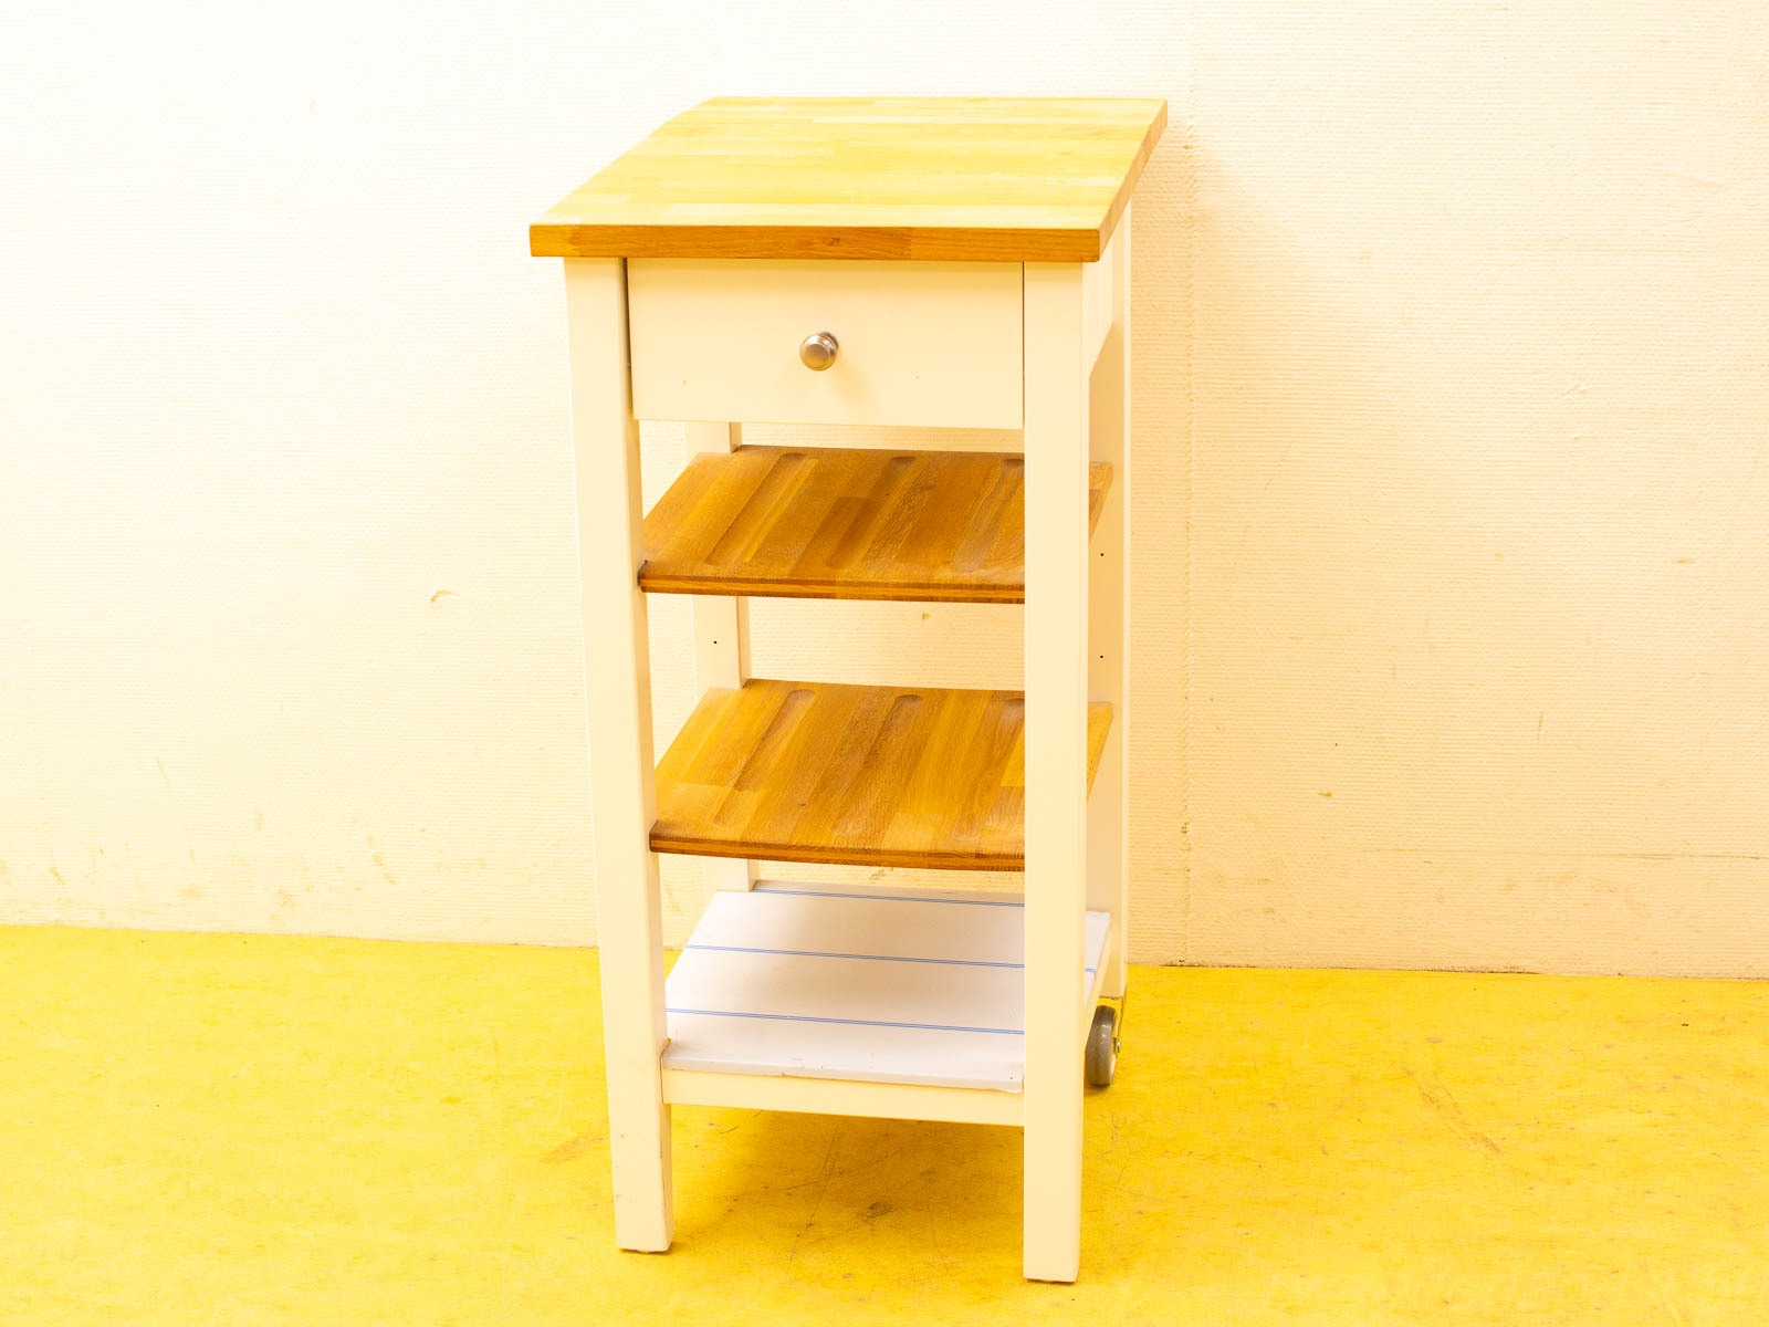
[[[1088, 706], [1088, 786], [1111, 706]], [[713, 688], [656, 770], [658, 853], [1021, 871], [1019, 692], [752, 679]]]

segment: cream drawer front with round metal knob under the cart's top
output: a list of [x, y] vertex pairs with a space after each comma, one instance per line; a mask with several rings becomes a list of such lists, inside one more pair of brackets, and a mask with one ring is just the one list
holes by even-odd
[[1019, 264], [633, 258], [633, 414], [1019, 428], [1022, 294]]

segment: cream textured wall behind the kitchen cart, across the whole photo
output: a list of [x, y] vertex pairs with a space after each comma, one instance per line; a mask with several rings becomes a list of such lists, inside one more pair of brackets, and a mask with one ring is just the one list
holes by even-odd
[[[593, 940], [525, 219], [713, 92], [1116, 92], [1173, 103], [1139, 957], [1769, 971], [1760, 5], [596, 9], [30, 18], [0, 918]], [[656, 490], [679, 433], [646, 442]], [[1017, 651], [1012, 610], [757, 612], [764, 671]], [[655, 656], [667, 734], [679, 602]], [[679, 936], [692, 863], [665, 888]]]

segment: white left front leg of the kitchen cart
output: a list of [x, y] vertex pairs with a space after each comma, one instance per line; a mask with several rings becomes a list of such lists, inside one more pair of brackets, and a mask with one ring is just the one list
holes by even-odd
[[571, 441], [596, 821], [601, 1021], [609, 1053], [614, 1239], [667, 1249], [674, 1237], [670, 1122], [660, 1058], [663, 918], [651, 754], [651, 651], [639, 591], [639, 425], [626, 370], [626, 264], [570, 258]]

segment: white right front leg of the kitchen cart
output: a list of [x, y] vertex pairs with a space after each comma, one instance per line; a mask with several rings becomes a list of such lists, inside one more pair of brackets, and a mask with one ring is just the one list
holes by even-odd
[[1026, 265], [1026, 1276], [1081, 1263], [1088, 363], [1079, 264]]

